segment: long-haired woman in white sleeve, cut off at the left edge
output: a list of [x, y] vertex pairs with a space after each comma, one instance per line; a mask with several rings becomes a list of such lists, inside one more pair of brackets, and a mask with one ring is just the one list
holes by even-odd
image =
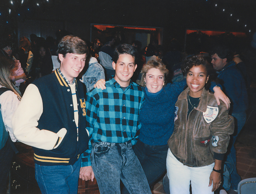
[[12, 163], [13, 150], [11, 147], [11, 139], [13, 142], [16, 138], [12, 132], [12, 116], [20, 103], [20, 94], [14, 89], [10, 80], [10, 70], [12, 69], [12, 61], [4, 56], [0, 56], [0, 193], [4, 193], [8, 173]]

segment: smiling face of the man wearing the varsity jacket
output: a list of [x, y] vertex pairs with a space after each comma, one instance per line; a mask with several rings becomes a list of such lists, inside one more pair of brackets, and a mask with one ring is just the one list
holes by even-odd
[[72, 83], [73, 79], [84, 69], [86, 54], [67, 53], [65, 57], [59, 54], [59, 59], [60, 71]]

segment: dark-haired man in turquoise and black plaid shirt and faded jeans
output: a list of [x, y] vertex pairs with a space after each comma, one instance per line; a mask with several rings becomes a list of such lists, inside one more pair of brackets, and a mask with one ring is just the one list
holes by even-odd
[[144, 100], [142, 88], [130, 81], [137, 68], [136, 56], [132, 45], [119, 45], [112, 63], [115, 77], [106, 82], [105, 90], [94, 88], [87, 93], [86, 128], [91, 142], [82, 155], [80, 178], [93, 180], [95, 175], [101, 194], [120, 193], [120, 179], [130, 193], [151, 194], [132, 149]]

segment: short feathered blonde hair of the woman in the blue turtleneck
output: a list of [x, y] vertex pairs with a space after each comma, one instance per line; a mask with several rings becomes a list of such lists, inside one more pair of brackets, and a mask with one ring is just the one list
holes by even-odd
[[152, 69], [152, 68], [156, 68], [159, 69], [162, 73], [164, 73], [164, 81], [166, 80], [166, 77], [169, 74], [169, 70], [166, 68], [165, 64], [162, 62], [161, 59], [157, 59], [157, 60], [152, 60], [152, 61], [148, 61], [148, 63], [146, 63], [142, 69], [141, 69], [141, 80], [140, 80], [140, 85], [145, 87], [145, 81], [144, 78], [146, 77], [146, 73]]

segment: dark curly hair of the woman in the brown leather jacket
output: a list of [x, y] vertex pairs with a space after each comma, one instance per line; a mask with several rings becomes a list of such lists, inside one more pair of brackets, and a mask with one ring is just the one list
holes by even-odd
[[184, 76], [187, 76], [188, 71], [193, 67], [193, 66], [199, 66], [203, 65], [206, 69], [206, 76], [209, 76], [207, 84], [205, 84], [205, 89], [209, 89], [211, 85], [211, 81], [216, 77], [215, 71], [212, 67], [212, 64], [210, 63], [211, 59], [207, 58], [201, 54], [199, 55], [194, 55], [194, 56], [188, 56], [184, 63], [181, 65], [181, 71]]

